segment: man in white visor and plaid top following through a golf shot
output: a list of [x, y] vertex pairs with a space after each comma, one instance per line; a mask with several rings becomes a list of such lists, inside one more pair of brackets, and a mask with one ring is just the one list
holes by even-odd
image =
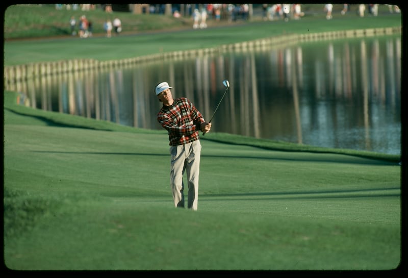
[[199, 131], [209, 132], [211, 123], [206, 122], [189, 99], [173, 98], [172, 87], [167, 82], [159, 83], [155, 92], [163, 107], [157, 120], [169, 134], [171, 154], [170, 186], [174, 206], [184, 208], [184, 182], [186, 171], [188, 182], [187, 208], [194, 211], [198, 205], [198, 175], [200, 172], [201, 144]]

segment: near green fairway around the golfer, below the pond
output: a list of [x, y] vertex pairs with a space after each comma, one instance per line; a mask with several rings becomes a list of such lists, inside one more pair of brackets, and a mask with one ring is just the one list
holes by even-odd
[[209, 133], [201, 140], [193, 212], [173, 207], [164, 131], [45, 111], [36, 116], [13, 104], [13, 93], [6, 96], [5, 263], [11, 269], [367, 270], [399, 264], [395, 162], [268, 150], [254, 147], [257, 139], [222, 143]]

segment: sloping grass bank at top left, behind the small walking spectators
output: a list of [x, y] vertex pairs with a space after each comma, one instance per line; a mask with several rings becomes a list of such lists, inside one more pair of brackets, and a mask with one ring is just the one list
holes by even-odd
[[85, 15], [92, 22], [93, 35], [105, 34], [104, 23], [118, 16], [123, 33], [135, 33], [161, 29], [184, 28], [190, 18], [174, 18], [158, 14], [132, 14], [114, 11], [109, 14], [100, 8], [94, 10], [56, 10], [55, 4], [9, 5], [5, 10], [5, 39], [70, 36], [69, 20], [74, 16], [78, 22]]

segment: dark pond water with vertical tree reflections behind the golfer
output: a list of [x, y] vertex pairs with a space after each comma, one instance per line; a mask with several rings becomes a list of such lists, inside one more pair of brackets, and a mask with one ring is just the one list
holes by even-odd
[[309, 42], [256, 52], [149, 62], [11, 84], [44, 110], [162, 129], [153, 88], [167, 81], [213, 131], [400, 153], [401, 38]]

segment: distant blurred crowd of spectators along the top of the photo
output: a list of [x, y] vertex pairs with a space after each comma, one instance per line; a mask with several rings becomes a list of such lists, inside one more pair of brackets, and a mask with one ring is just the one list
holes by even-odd
[[[262, 17], [264, 20], [299, 20], [304, 16], [301, 4], [260, 4], [262, 7]], [[326, 19], [332, 19], [333, 16], [345, 15], [350, 13], [350, 6], [353, 5], [353, 11], [356, 15], [364, 17], [366, 13], [377, 16], [378, 4], [343, 4], [341, 10], [334, 10], [333, 4], [321, 4], [322, 12], [326, 14]], [[400, 13], [396, 5], [387, 5], [390, 13]], [[191, 17], [194, 29], [207, 28], [208, 20], [248, 20], [249, 4], [172, 4], [172, 14], [174, 17]], [[56, 4], [56, 9], [82, 10], [89, 11], [93, 9], [104, 9], [106, 13], [113, 13], [111, 4]], [[142, 13], [164, 14], [166, 4], [151, 4], [144, 7]], [[148, 10], [148, 11], [146, 11]], [[78, 26], [77, 26], [78, 22]], [[85, 15], [77, 21], [73, 16], [69, 20], [70, 32], [73, 36], [79, 35], [81, 38], [92, 36], [92, 22]], [[111, 27], [112, 26], [112, 27]], [[78, 29], [78, 32], [77, 32]], [[122, 31], [120, 20], [115, 17], [113, 22], [109, 19], [104, 23], [104, 29], [107, 37], [111, 37], [112, 30], [116, 35]]]

